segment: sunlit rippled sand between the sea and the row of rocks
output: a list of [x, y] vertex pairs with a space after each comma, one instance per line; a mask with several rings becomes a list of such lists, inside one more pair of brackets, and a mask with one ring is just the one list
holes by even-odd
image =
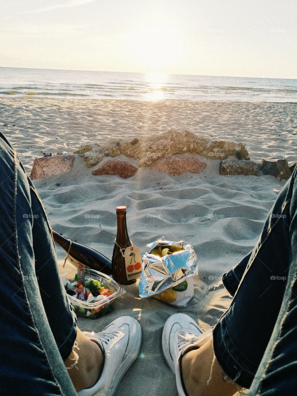
[[296, 103], [11, 98], [0, 104], [0, 130], [28, 169], [40, 150], [72, 152], [88, 141], [103, 143], [109, 137], [169, 128], [240, 141], [253, 160], [282, 153], [292, 162], [297, 150], [296, 110]]

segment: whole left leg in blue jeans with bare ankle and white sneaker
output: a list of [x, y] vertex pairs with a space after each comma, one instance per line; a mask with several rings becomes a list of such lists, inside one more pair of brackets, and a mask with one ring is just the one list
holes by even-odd
[[140, 326], [124, 316], [95, 335], [76, 327], [46, 213], [1, 133], [0, 156], [1, 392], [92, 395], [102, 389], [111, 396], [137, 357]]

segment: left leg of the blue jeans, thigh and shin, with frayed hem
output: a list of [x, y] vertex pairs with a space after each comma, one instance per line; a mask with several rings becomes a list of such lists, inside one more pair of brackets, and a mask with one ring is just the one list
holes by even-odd
[[0, 133], [0, 394], [76, 395], [63, 364], [76, 316], [61, 284], [44, 208]]

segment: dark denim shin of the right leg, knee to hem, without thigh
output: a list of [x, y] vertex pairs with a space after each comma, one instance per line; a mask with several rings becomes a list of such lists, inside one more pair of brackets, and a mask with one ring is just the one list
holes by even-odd
[[213, 349], [223, 371], [249, 388], [269, 343], [297, 246], [297, 169], [264, 223], [230, 308], [213, 329]]

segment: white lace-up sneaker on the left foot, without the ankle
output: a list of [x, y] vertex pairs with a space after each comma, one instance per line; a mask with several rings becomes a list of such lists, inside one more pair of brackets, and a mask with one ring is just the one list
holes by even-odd
[[105, 360], [98, 382], [77, 392], [79, 396], [112, 396], [124, 374], [137, 358], [141, 346], [141, 328], [131, 316], [121, 316], [100, 333], [84, 332], [104, 351]]

